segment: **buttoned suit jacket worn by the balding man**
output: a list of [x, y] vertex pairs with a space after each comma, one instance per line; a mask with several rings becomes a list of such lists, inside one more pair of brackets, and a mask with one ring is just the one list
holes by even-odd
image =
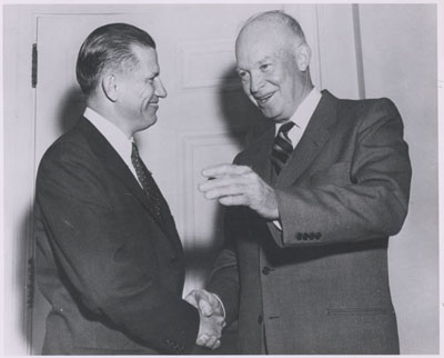
[[208, 289], [239, 319], [243, 354], [397, 354], [389, 237], [407, 212], [411, 165], [387, 99], [323, 91], [278, 178], [274, 126], [235, 162], [276, 189], [283, 230], [248, 208], [226, 211], [225, 246]]

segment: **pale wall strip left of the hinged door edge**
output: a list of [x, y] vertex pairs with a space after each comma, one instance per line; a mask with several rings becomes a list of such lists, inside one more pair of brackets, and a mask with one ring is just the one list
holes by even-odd
[[[18, 9], [16, 9], [18, 10]], [[4, 307], [3, 352], [27, 352], [28, 311], [27, 253], [32, 238], [33, 171], [33, 98], [31, 89], [31, 48], [33, 23], [27, 11], [3, 8], [3, 146], [4, 146], [4, 228], [1, 250], [4, 252], [1, 277]], [[18, 43], [20, 43], [18, 46]]]

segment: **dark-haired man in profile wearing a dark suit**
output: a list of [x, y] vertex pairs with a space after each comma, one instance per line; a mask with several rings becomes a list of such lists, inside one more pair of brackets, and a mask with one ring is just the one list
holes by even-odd
[[158, 119], [159, 73], [153, 39], [133, 26], [98, 28], [80, 49], [88, 107], [37, 178], [37, 280], [52, 307], [43, 354], [185, 354], [202, 334], [219, 345], [223, 319], [181, 298], [181, 241], [132, 141]]

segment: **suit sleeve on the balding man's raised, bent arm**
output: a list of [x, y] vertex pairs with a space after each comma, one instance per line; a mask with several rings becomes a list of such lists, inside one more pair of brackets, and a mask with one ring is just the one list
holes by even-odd
[[412, 175], [401, 116], [382, 99], [356, 122], [350, 180], [276, 189], [283, 230], [272, 222], [269, 228], [280, 247], [361, 241], [401, 230]]

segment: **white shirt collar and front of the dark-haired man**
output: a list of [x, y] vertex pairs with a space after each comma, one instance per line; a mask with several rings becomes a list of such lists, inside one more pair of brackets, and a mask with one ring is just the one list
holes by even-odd
[[128, 167], [131, 167], [131, 152], [133, 139], [128, 137], [108, 119], [87, 107], [83, 116], [101, 132], [108, 142], [114, 148]]

